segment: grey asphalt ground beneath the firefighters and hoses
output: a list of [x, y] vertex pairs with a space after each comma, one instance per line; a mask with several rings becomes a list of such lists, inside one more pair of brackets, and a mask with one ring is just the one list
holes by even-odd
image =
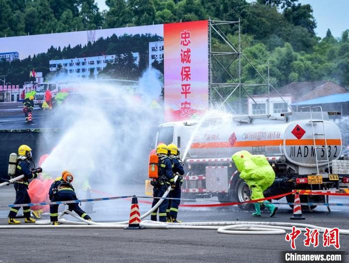
[[[144, 186], [124, 187], [120, 195], [144, 195]], [[130, 193], [131, 192], [131, 193]], [[102, 194], [103, 195], [103, 194]], [[92, 198], [102, 195], [93, 194]], [[108, 195], [107, 195], [108, 196]], [[79, 196], [83, 198], [82, 196]], [[105, 195], [104, 195], [105, 197]], [[12, 186], [0, 189], [0, 204], [14, 200]], [[150, 201], [148, 199], [147, 201]], [[330, 202], [349, 203], [345, 197], [331, 197]], [[127, 220], [130, 200], [95, 202], [94, 221], [116, 222]], [[207, 202], [209, 203], [209, 202]], [[84, 207], [84, 204], [82, 205]], [[140, 203], [141, 214], [150, 205]], [[19, 212], [20, 214], [21, 212]], [[274, 218], [264, 211], [255, 218], [251, 212], [237, 207], [224, 208], [181, 208], [178, 218], [184, 222], [210, 221], [263, 221], [295, 222], [290, 220], [292, 210], [279, 206]], [[304, 212], [305, 220], [296, 223], [320, 227], [349, 229], [349, 207], [318, 207], [313, 212]], [[0, 210], [0, 225], [7, 224], [7, 210]], [[69, 220], [70, 218], [67, 217]], [[23, 219], [20, 219], [23, 223]], [[296, 240], [296, 252], [329, 252], [334, 247], [305, 247], [303, 234]], [[339, 252], [348, 253], [349, 236], [340, 236]], [[224, 235], [215, 230], [174, 230], [174, 229], [26, 229], [0, 230], [0, 263], [3, 262], [282, 262], [283, 252], [291, 252], [285, 235]], [[338, 252], [337, 251], [337, 252]], [[347, 256], [346, 260], [349, 262]]]

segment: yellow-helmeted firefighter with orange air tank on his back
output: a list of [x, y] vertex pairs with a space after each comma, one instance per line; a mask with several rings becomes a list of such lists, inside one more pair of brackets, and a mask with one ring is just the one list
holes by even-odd
[[[152, 179], [151, 184], [153, 188], [153, 197], [162, 197], [167, 188], [171, 185], [171, 188], [175, 188], [174, 175], [172, 172], [172, 162], [168, 156], [169, 148], [166, 144], [161, 143], [156, 149], [156, 155], [150, 156], [150, 169], [149, 177]], [[156, 161], [155, 161], [156, 160]], [[156, 169], [153, 169], [156, 168]], [[153, 174], [153, 173], [156, 174]], [[154, 198], [154, 207], [160, 199]], [[159, 221], [167, 222], [166, 210], [169, 205], [169, 200], [165, 199], [159, 206]], [[153, 211], [151, 214], [151, 220], [157, 221], [157, 210]]]

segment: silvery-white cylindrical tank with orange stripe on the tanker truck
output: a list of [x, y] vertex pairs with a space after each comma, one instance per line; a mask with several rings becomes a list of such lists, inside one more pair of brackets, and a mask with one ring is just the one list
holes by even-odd
[[[313, 123], [314, 133], [323, 134], [322, 122]], [[324, 121], [329, 160], [341, 155], [342, 137], [338, 126]], [[316, 146], [325, 145], [324, 136], [315, 136]], [[218, 119], [203, 123], [193, 138], [190, 158], [227, 158], [235, 152], [247, 150], [252, 154], [286, 157], [300, 166], [316, 167], [312, 125], [309, 119], [290, 122], [265, 120], [257, 123], [238, 123], [232, 119]], [[318, 160], [326, 160], [326, 149], [318, 149]], [[323, 162], [321, 165], [327, 165]]]

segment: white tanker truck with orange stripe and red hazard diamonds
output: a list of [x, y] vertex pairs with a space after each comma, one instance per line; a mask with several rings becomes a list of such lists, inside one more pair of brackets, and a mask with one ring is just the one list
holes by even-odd
[[[164, 123], [159, 126], [156, 145], [175, 143], [184, 157], [183, 198], [249, 200], [250, 190], [231, 161], [231, 156], [240, 150], [265, 155], [273, 167], [276, 179], [264, 193], [266, 197], [294, 189], [338, 189], [343, 182], [349, 182], [349, 177], [332, 171], [332, 163], [341, 156], [342, 136], [329, 114], [313, 111], [276, 116], [230, 115]], [[349, 161], [345, 162], [347, 166]], [[287, 201], [293, 202], [294, 196], [287, 196]], [[324, 201], [320, 195], [301, 196], [303, 203]], [[239, 207], [247, 210], [251, 204]]]

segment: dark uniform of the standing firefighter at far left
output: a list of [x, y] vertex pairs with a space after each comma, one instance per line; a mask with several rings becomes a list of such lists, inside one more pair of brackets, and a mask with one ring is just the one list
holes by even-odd
[[[28, 180], [37, 177], [37, 173], [31, 171], [30, 162], [28, 160], [19, 161], [16, 169], [16, 177], [20, 175], [24, 175], [24, 178], [13, 183], [14, 189], [16, 190], [16, 200], [14, 201], [14, 205], [31, 203], [27, 191], [29, 185]], [[19, 209], [20, 207], [12, 207], [9, 210], [8, 217], [15, 218]], [[30, 207], [23, 207], [23, 216], [24, 218], [30, 218]]]

